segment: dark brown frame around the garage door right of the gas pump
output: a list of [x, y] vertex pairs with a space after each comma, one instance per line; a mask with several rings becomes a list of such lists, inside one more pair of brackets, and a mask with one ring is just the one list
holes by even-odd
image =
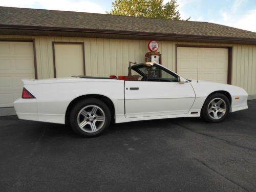
[[[178, 66], [178, 47], [194, 47], [197, 48], [197, 45], [184, 45], [184, 44], [176, 44], [175, 48], [175, 72], [177, 73]], [[228, 49], [228, 63], [227, 63], [227, 83], [231, 84], [232, 82], [232, 46], [211, 46], [211, 45], [199, 45], [199, 48], [223, 48]]]

